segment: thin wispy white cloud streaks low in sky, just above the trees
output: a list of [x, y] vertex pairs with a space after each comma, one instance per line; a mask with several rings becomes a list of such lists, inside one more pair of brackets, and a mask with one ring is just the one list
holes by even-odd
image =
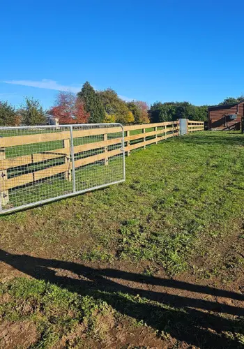
[[[54, 80], [49, 79], [43, 79], [40, 81], [33, 81], [33, 80], [6, 80], [3, 81], [6, 84], [14, 84], [14, 85], [22, 85], [22, 86], [29, 86], [29, 87], [38, 87], [39, 89], [54, 89], [56, 91], [70, 91], [74, 94], [77, 94], [82, 89], [82, 84], [78, 86], [74, 85], [62, 85]], [[125, 96], [119, 96], [119, 98], [123, 99], [123, 101], [130, 102], [133, 101], [133, 98], [125, 97]]]

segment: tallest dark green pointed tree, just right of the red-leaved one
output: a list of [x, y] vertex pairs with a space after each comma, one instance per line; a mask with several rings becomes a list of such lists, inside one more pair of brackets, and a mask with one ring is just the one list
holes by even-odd
[[100, 96], [88, 81], [84, 83], [82, 91], [78, 92], [77, 96], [82, 99], [85, 111], [90, 114], [89, 122], [91, 124], [100, 124], [105, 121], [106, 113]]

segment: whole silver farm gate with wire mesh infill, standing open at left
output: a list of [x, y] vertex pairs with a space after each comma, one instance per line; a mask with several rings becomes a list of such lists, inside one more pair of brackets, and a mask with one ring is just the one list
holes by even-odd
[[0, 214], [122, 181], [121, 124], [0, 128]]

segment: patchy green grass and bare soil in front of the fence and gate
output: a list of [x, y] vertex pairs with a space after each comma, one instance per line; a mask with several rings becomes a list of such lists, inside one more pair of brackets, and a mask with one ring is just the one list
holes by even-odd
[[0, 347], [242, 348], [243, 145], [171, 138], [123, 184], [2, 216]]

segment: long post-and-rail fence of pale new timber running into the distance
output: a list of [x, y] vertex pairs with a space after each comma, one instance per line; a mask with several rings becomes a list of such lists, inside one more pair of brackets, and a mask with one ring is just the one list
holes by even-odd
[[[85, 140], [84, 144], [78, 145], [70, 144], [69, 130], [58, 127], [54, 132], [43, 132], [40, 129], [38, 132], [37, 126], [33, 134], [24, 135], [6, 134], [0, 129], [0, 209], [9, 205], [9, 191], [15, 188], [36, 184], [61, 174], [63, 179], [72, 181], [72, 170], [96, 163], [108, 165], [109, 159], [121, 155], [123, 133], [120, 127], [74, 128], [73, 139]], [[188, 133], [202, 130], [203, 121], [188, 121]], [[179, 121], [124, 126], [124, 131], [122, 145], [129, 156], [134, 149], [146, 148], [149, 144], [178, 136]], [[52, 147], [43, 149], [43, 144], [52, 144]], [[55, 144], [57, 148], [54, 147]], [[72, 153], [74, 163], [70, 156]]]

